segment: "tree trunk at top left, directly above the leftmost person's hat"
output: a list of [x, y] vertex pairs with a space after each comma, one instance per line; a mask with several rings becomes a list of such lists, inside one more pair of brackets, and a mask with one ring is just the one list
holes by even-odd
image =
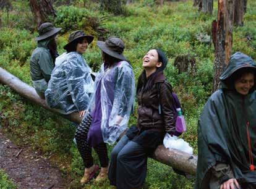
[[30, 0], [30, 9], [35, 16], [38, 26], [41, 23], [49, 22], [51, 18], [56, 17], [56, 11], [50, 0]]

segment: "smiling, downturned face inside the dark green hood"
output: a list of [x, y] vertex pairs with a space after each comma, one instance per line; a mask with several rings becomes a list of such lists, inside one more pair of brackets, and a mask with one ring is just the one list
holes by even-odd
[[245, 73], [234, 83], [236, 91], [244, 95], [249, 93], [252, 86], [254, 86], [254, 74], [252, 73]]

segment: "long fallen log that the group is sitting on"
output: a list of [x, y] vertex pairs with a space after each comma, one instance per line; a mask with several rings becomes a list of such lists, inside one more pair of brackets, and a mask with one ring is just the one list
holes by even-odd
[[[44, 99], [41, 99], [36, 93], [35, 89], [23, 83], [19, 78], [15, 77], [11, 73], [0, 67], [0, 83], [9, 86], [16, 93], [20, 94], [25, 99], [32, 101], [32, 103], [38, 104], [45, 109], [48, 109], [55, 114], [59, 114], [56, 110], [49, 108]], [[80, 123], [81, 119], [77, 112], [74, 112], [69, 115], [59, 114], [66, 119], [71, 120], [72, 122]], [[158, 146], [155, 153], [153, 154], [153, 159], [156, 161], [162, 162], [168, 166], [173, 167], [174, 169], [181, 170], [190, 175], [195, 175], [197, 167], [197, 156], [190, 155], [179, 151], [177, 149], [169, 150], [164, 148], [163, 145]]]

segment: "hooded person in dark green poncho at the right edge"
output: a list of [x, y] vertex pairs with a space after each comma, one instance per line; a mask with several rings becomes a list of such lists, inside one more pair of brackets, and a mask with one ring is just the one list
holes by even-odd
[[195, 189], [256, 188], [255, 62], [236, 52], [198, 120]]

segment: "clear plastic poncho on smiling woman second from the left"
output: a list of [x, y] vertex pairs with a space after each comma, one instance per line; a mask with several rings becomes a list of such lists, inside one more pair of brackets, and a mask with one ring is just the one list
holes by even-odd
[[58, 109], [61, 114], [88, 109], [94, 84], [91, 73], [78, 52], [59, 56], [45, 91], [48, 106]]

